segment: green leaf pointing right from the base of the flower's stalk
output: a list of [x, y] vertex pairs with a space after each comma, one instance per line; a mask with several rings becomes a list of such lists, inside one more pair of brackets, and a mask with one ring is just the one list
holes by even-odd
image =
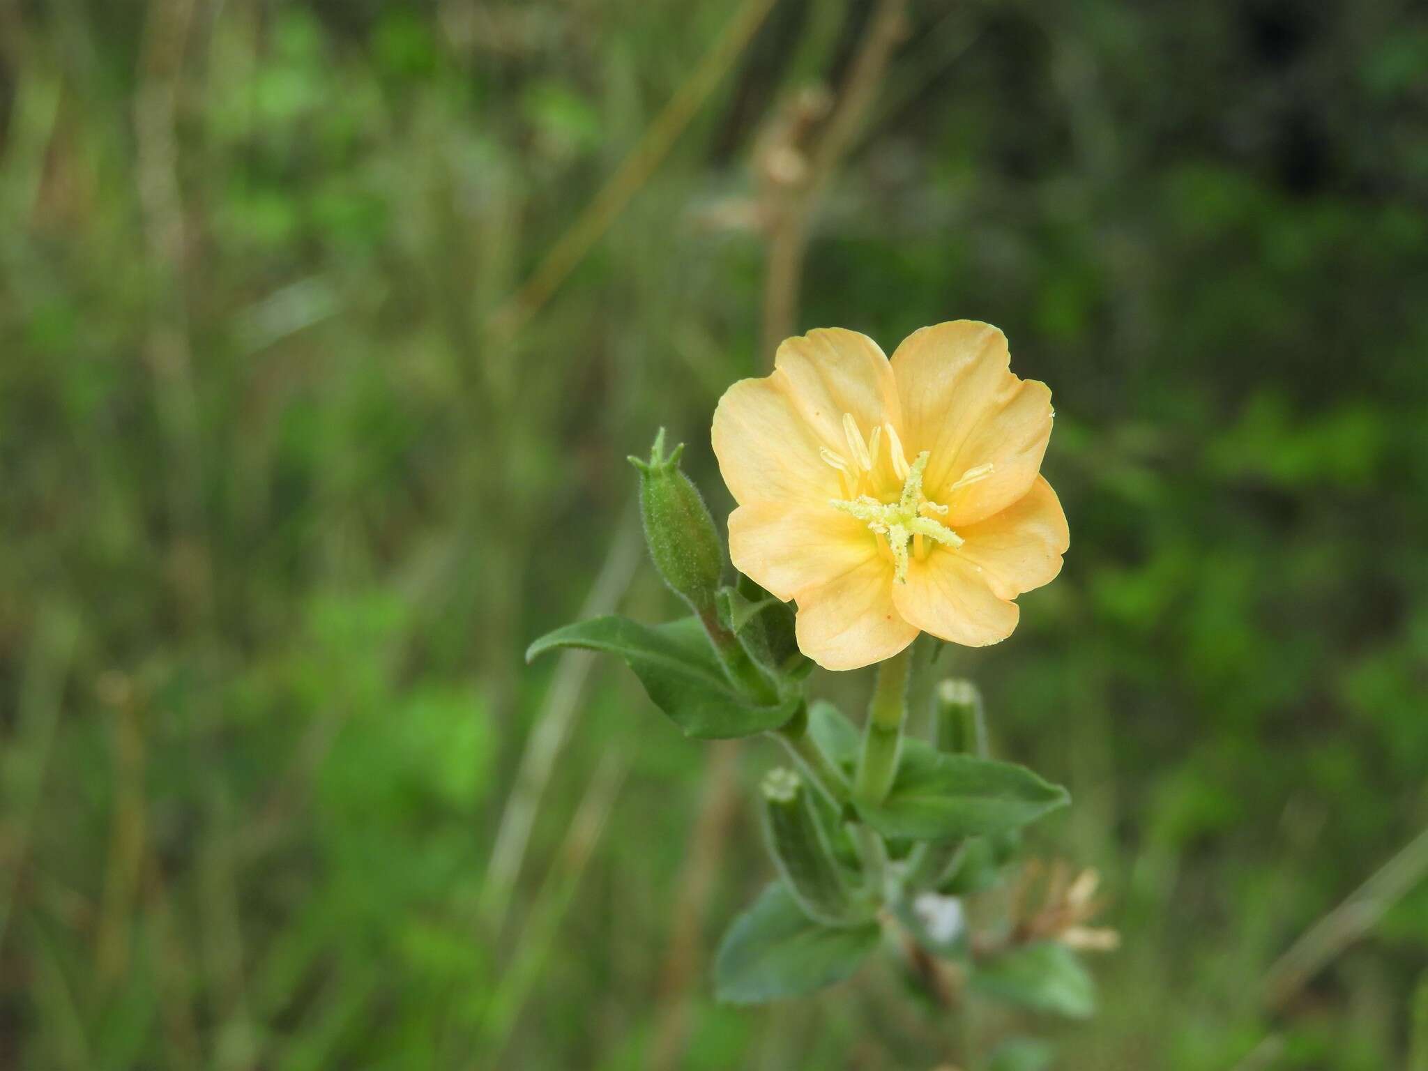
[[857, 807], [884, 837], [944, 840], [1014, 830], [1065, 807], [1070, 798], [1065, 788], [1022, 765], [941, 754], [907, 740], [887, 798]]

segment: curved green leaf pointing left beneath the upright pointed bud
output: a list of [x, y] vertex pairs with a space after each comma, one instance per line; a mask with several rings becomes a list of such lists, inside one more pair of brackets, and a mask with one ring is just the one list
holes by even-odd
[[695, 617], [644, 625], [625, 617], [597, 617], [557, 628], [526, 648], [526, 661], [557, 647], [618, 654], [645, 693], [684, 734], [700, 740], [750, 737], [778, 728], [798, 697], [764, 707], [735, 691]]

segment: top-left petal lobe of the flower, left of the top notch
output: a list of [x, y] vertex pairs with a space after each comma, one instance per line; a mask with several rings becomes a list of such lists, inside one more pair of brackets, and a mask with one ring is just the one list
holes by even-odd
[[774, 378], [784, 381], [804, 421], [824, 446], [844, 457], [848, 457], [844, 413], [853, 414], [864, 438], [873, 428], [900, 420], [892, 366], [865, 334], [820, 327], [785, 338], [774, 357]]

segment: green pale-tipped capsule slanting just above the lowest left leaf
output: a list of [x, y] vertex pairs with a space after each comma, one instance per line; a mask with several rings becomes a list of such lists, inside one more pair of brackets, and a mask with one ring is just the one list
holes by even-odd
[[763, 794], [768, 848], [804, 914], [825, 925], [861, 921], [798, 774], [783, 767], [771, 770]]

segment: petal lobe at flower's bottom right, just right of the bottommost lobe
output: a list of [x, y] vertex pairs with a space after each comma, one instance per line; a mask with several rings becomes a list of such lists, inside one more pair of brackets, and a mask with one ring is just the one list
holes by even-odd
[[972, 561], [941, 548], [908, 563], [907, 583], [892, 585], [892, 601], [924, 633], [965, 647], [1005, 640], [1021, 614], [992, 593]]

